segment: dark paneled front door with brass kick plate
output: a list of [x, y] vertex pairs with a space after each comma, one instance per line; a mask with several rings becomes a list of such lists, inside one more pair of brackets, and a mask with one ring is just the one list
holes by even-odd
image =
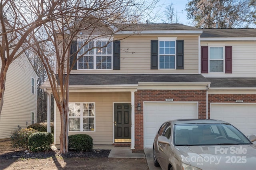
[[131, 142], [131, 104], [115, 104], [115, 142]]

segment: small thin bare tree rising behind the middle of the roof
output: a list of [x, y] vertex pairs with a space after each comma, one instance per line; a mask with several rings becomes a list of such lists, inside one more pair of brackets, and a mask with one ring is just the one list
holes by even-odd
[[165, 7], [164, 15], [167, 17], [167, 21], [162, 21], [167, 23], [179, 23], [180, 17], [178, 17], [177, 11], [174, 11], [173, 3]]

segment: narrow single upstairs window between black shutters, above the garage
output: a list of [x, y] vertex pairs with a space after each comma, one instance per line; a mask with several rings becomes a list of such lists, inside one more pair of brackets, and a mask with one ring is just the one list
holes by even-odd
[[175, 69], [176, 38], [158, 38], [159, 42], [159, 68]]

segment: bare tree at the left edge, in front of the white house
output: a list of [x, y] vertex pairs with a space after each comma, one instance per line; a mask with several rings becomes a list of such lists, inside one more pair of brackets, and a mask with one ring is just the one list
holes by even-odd
[[1, 0], [0, 1], [0, 114], [4, 104], [6, 75], [10, 64], [26, 49], [34, 45], [26, 43], [30, 33], [44, 25], [56, 13], [62, 0]]

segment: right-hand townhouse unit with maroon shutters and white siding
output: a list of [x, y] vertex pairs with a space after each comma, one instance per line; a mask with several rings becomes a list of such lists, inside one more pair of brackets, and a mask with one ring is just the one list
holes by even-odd
[[200, 38], [208, 118], [256, 134], [256, 29], [203, 29]]

